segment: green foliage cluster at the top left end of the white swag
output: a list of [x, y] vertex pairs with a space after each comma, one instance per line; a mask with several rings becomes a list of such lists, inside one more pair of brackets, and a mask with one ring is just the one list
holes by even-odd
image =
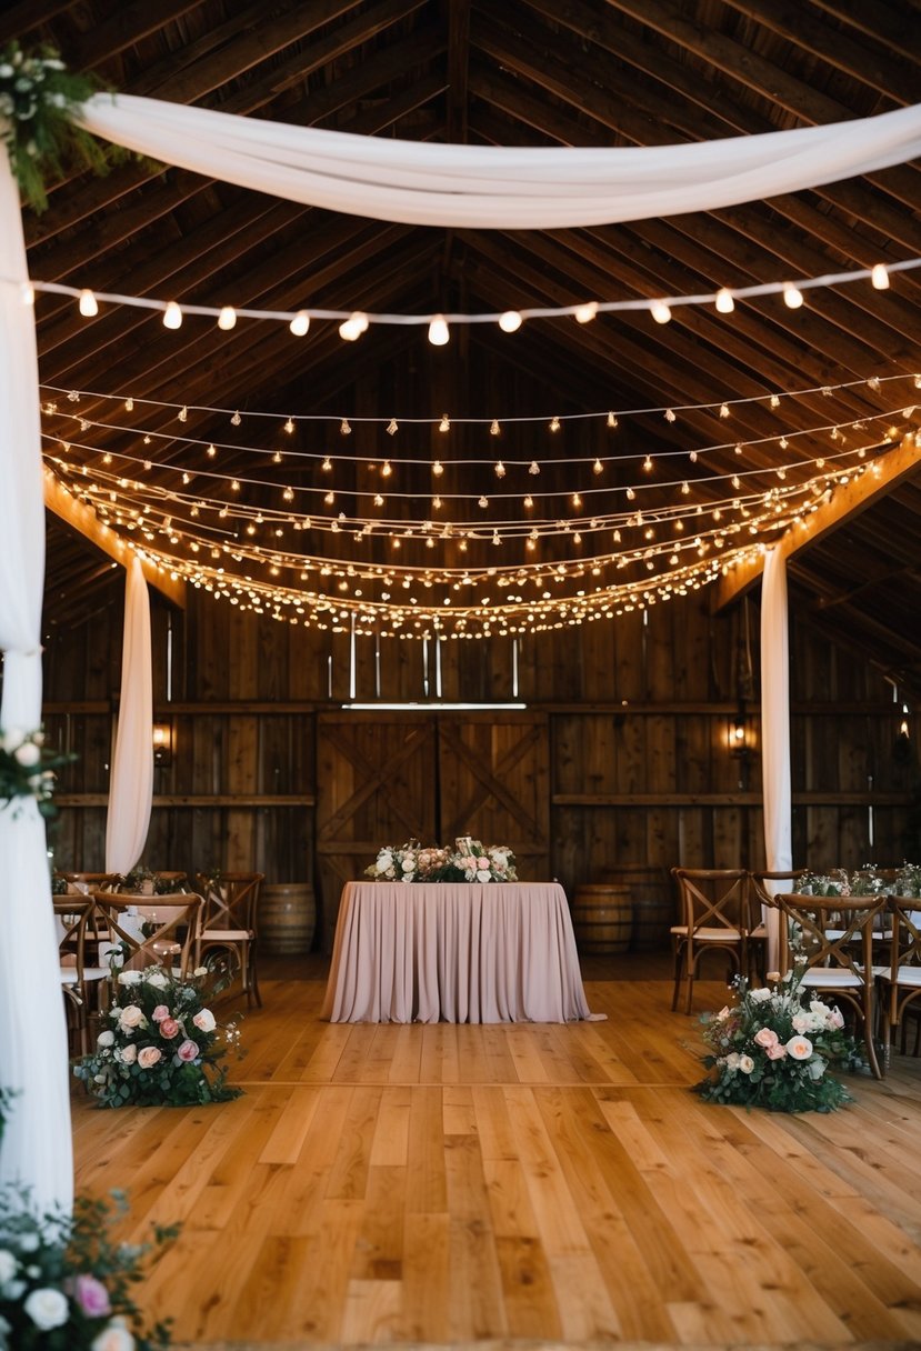
[[92, 76], [66, 70], [53, 47], [24, 53], [14, 41], [0, 51], [0, 135], [22, 199], [35, 211], [47, 207], [46, 181], [65, 166], [107, 172], [113, 151], [74, 120], [100, 88]]

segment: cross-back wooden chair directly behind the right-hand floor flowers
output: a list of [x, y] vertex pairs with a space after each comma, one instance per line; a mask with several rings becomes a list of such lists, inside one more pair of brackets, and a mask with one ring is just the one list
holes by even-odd
[[777, 897], [781, 909], [781, 974], [805, 961], [802, 984], [817, 997], [835, 996], [863, 1027], [867, 1059], [875, 1078], [883, 1077], [874, 1044], [875, 973], [874, 925], [886, 909], [883, 896]]

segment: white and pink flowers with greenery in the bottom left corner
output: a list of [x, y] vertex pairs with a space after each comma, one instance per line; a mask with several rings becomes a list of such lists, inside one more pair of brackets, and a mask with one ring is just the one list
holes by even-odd
[[39, 1215], [28, 1192], [0, 1189], [0, 1351], [159, 1351], [170, 1321], [144, 1329], [131, 1286], [144, 1259], [178, 1235], [153, 1227], [153, 1242], [115, 1243], [112, 1225], [127, 1213], [112, 1201], [78, 1196], [73, 1215]]

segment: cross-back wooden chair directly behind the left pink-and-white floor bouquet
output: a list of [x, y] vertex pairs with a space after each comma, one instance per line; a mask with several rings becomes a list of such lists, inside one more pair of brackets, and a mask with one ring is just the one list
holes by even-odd
[[127, 950], [123, 969], [157, 963], [186, 977], [196, 965], [201, 897], [194, 892], [144, 897], [108, 892], [97, 893], [95, 902], [108, 929], [108, 947]]

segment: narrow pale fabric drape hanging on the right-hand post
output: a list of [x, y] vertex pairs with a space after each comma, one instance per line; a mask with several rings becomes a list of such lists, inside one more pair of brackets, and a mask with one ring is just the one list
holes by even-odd
[[[764, 857], [771, 873], [793, 867], [793, 796], [790, 789], [790, 653], [786, 559], [771, 549], [762, 578], [762, 782]], [[767, 962], [777, 970], [778, 915], [768, 909]]]

